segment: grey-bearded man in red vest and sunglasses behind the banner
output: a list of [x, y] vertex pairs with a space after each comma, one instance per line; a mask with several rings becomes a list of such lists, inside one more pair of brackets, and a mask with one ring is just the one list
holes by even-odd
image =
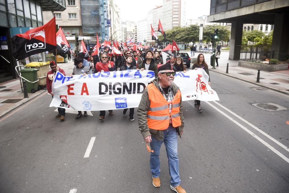
[[[101, 61], [97, 62], [95, 65], [95, 69], [94, 69], [95, 73], [97, 72], [112, 72], [115, 71], [115, 65], [114, 62], [112, 61], [108, 61], [108, 54], [106, 52], [103, 52], [101, 54]], [[112, 110], [108, 110], [109, 115], [112, 116], [113, 115], [113, 111]], [[104, 120], [105, 117], [105, 110], [104, 111], [100, 111], [99, 113], [99, 120]]]

